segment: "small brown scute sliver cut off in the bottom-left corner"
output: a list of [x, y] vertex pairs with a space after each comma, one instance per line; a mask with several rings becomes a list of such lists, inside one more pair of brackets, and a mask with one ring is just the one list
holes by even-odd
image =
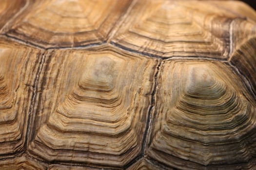
[[1, 170], [47, 170], [47, 166], [26, 156], [0, 160]]

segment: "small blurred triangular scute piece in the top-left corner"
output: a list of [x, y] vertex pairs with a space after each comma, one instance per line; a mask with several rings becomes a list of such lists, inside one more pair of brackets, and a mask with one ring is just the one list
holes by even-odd
[[26, 6], [26, 4], [27, 0], [12, 0], [12, 3], [10, 3], [10, 0], [1, 0], [0, 30], [6, 23], [10, 21], [11, 17], [19, 14], [20, 10], [22, 10], [22, 8]]

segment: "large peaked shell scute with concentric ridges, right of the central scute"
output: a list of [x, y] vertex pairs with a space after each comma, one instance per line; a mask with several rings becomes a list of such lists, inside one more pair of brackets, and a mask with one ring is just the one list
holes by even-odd
[[184, 170], [255, 166], [256, 103], [227, 63], [165, 61], [158, 82], [150, 157]]

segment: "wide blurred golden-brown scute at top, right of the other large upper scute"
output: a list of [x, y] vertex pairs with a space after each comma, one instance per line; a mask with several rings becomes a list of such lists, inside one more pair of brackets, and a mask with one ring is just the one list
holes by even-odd
[[236, 17], [214, 4], [209, 8], [209, 1], [138, 0], [112, 43], [161, 57], [225, 59]]

